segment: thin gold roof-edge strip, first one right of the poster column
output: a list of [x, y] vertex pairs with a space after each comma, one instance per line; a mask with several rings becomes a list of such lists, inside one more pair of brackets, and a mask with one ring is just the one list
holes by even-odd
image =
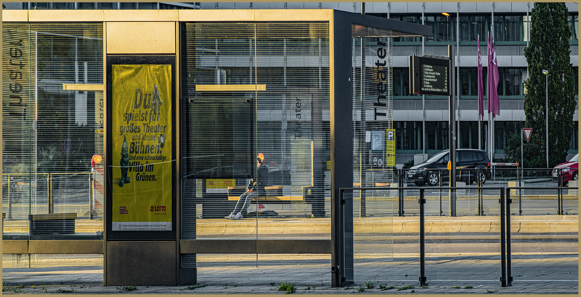
[[180, 9], [180, 22], [249, 22], [253, 9]]

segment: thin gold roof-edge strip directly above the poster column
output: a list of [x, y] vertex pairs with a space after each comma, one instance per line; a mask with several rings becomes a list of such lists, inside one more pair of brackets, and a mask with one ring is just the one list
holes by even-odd
[[177, 22], [177, 9], [106, 9], [105, 22]]

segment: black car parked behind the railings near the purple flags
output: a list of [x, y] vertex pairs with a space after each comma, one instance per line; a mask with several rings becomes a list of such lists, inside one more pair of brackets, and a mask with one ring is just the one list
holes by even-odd
[[[417, 164], [407, 171], [408, 183], [415, 183], [418, 187], [428, 185], [439, 185], [440, 176], [442, 181], [450, 180], [448, 171], [448, 162], [450, 161], [450, 150], [436, 153], [426, 160], [426, 162]], [[490, 161], [486, 153], [480, 149], [457, 149], [456, 150], [456, 180], [465, 181], [466, 184], [474, 183], [476, 171], [462, 171], [459, 169], [487, 169]], [[442, 171], [440, 171], [442, 170]], [[441, 175], [439, 173], [441, 172]], [[492, 176], [489, 170], [483, 170], [480, 173], [482, 184]]]

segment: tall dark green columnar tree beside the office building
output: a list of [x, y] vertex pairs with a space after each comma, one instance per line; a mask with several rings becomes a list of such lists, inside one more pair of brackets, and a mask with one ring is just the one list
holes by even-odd
[[[535, 3], [530, 24], [530, 41], [525, 48], [529, 78], [525, 82], [526, 128], [532, 128], [526, 159], [534, 167], [546, 164], [545, 74], [548, 70], [548, 156], [549, 167], [564, 162], [569, 150], [575, 112], [575, 81], [570, 63], [571, 28], [565, 3]], [[526, 151], [525, 151], [526, 152]]]

